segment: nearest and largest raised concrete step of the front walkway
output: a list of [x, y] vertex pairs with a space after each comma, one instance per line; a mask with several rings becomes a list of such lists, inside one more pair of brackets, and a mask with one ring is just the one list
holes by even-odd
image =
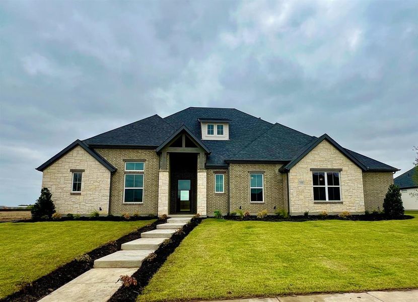
[[122, 250], [94, 261], [95, 268], [140, 267], [154, 250]]

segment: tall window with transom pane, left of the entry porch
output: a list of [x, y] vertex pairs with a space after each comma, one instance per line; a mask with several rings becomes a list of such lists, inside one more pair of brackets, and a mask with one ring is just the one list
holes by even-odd
[[124, 182], [124, 202], [144, 202], [144, 162], [126, 162]]

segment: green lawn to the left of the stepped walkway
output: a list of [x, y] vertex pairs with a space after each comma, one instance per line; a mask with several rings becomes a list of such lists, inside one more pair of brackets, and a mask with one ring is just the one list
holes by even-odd
[[153, 221], [0, 223], [0, 298]]

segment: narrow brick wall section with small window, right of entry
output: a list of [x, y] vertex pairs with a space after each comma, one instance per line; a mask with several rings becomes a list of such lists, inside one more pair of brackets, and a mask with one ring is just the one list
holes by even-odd
[[[223, 215], [228, 213], [228, 169], [206, 169], [206, 213], [213, 216], [215, 210], [220, 210]], [[224, 193], [215, 193], [215, 174], [224, 174]]]

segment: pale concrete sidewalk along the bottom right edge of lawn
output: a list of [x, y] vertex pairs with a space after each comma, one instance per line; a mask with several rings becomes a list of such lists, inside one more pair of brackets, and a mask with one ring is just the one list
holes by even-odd
[[417, 302], [418, 289], [250, 298], [211, 302]]

